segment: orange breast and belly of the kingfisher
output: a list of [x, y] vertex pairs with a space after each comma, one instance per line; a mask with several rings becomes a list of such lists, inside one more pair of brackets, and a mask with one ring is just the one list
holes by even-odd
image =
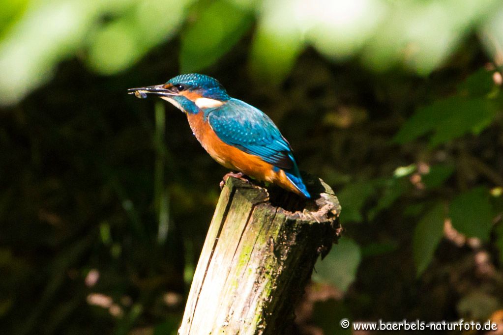
[[192, 132], [203, 148], [218, 163], [228, 169], [241, 171], [258, 180], [275, 183], [287, 190], [301, 194], [281, 169], [274, 171], [272, 164], [262, 158], [247, 154], [238, 148], [224, 143], [218, 138], [208, 122], [203, 121], [204, 113], [187, 113]]

